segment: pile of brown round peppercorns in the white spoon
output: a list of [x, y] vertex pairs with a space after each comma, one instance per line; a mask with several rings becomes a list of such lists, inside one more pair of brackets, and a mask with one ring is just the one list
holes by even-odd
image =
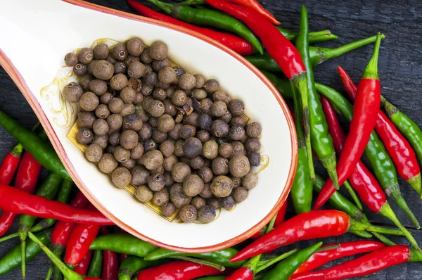
[[113, 184], [183, 222], [212, 222], [248, 198], [258, 179], [262, 128], [247, 125], [243, 101], [215, 79], [191, 75], [167, 58], [163, 42], [132, 38], [68, 53], [79, 83], [63, 96], [79, 103], [77, 141]]

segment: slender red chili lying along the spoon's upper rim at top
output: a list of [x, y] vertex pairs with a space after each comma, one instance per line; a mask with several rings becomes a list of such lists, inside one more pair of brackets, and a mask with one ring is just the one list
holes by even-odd
[[188, 30], [196, 31], [200, 34], [210, 37], [211, 39], [215, 39], [215, 41], [223, 44], [233, 51], [236, 51], [236, 53], [240, 54], [241, 56], [249, 56], [254, 53], [253, 46], [241, 37], [237, 37], [229, 33], [210, 30], [208, 28], [197, 27], [189, 23], [184, 23], [181, 20], [177, 20], [168, 15], [163, 15], [162, 13], [151, 10], [151, 8], [148, 8], [147, 6], [144, 6], [135, 0], [127, 0], [127, 3], [132, 6], [132, 8], [134, 8], [140, 15], [153, 18], [155, 20], [161, 20], [166, 23], [172, 23], [174, 25], [184, 27]]

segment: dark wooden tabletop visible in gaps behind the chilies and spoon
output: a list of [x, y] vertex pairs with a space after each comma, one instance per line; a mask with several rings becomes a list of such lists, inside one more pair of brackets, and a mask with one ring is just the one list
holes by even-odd
[[[90, 0], [91, 2], [110, 8], [134, 13], [124, 0]], [[367, 1], [339, 1], [339, 0], [307, 0], [307, 1], [277, 1], [263, 2], [282, 27], [297, 30], [299, 23], [300, 5], [305, 4], [309, 11], [311, 30], [330, 29], [338, 35], [338, 40], [320, 44], [321, 46], [340, 46], [363, 37], [369, 37], [376, 32], [383, 32], [387, 38], [381, 45], [379, 59], [379, 76], [381, 78], [382, 93], [395, 103], [400, 110], [422, 125], [422, 1], [404, 0], [367, 0]], [[93, 23], [95, 24], [95, 23]], [[142, 34], [139, 34], [142, 37]], [[371, 56], [372, 46], [366, 46], [352, 51], [345, 56], [326, 61], [315, 70], [316, 81], [323, 82], [338, 90], [342, 90], [336, 67], [341, 65], [350, 72], [354, 81], [358, 81], [366, 63]], [[42, 63], [42, 61], [41, 61]], [[26, 127], [32, 127], [37, 122], [32, 109], [20, 94], [18, 88], [3, 68], [0, 67], [0, 108], [15, 117]], [[0, 158], [15, 145], [13, 137], [0, 128]], [[43, 174], [45, 177], [45, 172]], [[422, 201], [411, 187], [400, 179], [404, 198], [409, 203], [416, 217], [422, 216]], [[1, 198], [0, 198], [1, 199]], [[422, 246], [422, 232], [411, 227], [404, 214], [391, 203], [402, 223], [411, 229], [416, 240]], [[291, 210], [291, 209], [290, 209]], [[387, 219], [373, 214], [366, 209], [372, 222], [375, 224], [391, 225]], [[422, 217], [420, 219], [422, 223]], [[15, 232], [16, 225], [10, 233]], [[354, 241], [357, 238], [352, 234], [345, 234], [338, 238], [326, 238], [324, 243]], [[392, 237], [392, 241], [409, 245], [405, 238]], [[0, 257], [6, 254], [18, 240], [0, 243]], [[299, 248], [312, 242], [295, 244]], [[343, 262], [340, 260], [336, 264]], [[44, 254], [38, 255], [27, 264], [27, 279], [44, 279], [49, 267], [49, 260]], [[406, 263], [385, 269], [373, 274], [371, 279], [422, 279], [419, 263]], [[0, 279], [19, 279], [20, 269], [10, 274], [0, 276]]]

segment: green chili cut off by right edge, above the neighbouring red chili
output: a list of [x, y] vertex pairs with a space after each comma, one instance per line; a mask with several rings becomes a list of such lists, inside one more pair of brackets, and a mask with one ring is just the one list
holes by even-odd
[[[410, 142], [411, 146], [414, 148], [416, 155], [418, 155], [419, 160], [422, 162], [422, 131], [416, 125], [416, 123], [411, 120], [407, 115], [400, 112], [397, 107], [392, 105], [389, 101], [385, 100], [383, 96], [381, 96], [381, 105], [385, 109], [385, 113], [387, 113], [388, 117], [392, 121], [392, 123], [399, 129], [400, 132], [406, 139]], [[422, 192], [421, 192], [422, 198]]]

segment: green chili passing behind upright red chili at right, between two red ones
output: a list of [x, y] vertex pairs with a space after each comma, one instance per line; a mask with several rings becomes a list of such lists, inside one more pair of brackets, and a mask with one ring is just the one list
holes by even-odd
[[[338, 113], [345, 116], [347, 120], [352, 120], [353, 106], [343, 95], [324, 84], [315, 83], [315, 86], [319, 93], [326, 96], [326, 98], [335, 105], [335, 109], [339, 110]], [[390, 196], [397, 205], [399, 205], [399, 208], [403, 210], [415, 227], [417, 227], [418, 220], [411, 212], [409, 206], [402, 197], [402, 193], [400, 192], [394, 163], [392, 163], [390, 155], [385, 150], [383, 142], [374, 131], [371, 133], [368, 145], [366, 145], [365, 155], [366, 158], [368, 158], [373, 172], [375, 173], [375, 176], [378, 179], [378, 182], [380, 182], [385, 193], [387, 193], [387, 195]]]

